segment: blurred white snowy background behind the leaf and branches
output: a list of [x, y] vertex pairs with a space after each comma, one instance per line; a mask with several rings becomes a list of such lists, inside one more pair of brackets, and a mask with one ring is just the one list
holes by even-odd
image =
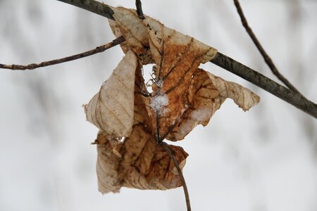
[[[134, 0], [105, 4], [135, 8]], [[143, 0], [143, 11], [275, 79], [244, 31], [233, 1]], [[242, 0], [249, 24], [280, 71], [317, 102], [317, 1]], [[58, 1], [0, 0], [0, 63], [61, 58], [113, 40], [106, 18]], [[123, 52], [0, 70], [0, 210], [185, 210], [182, 188], [98, 192], [97, 128], [82, 104]], [[317, 121], [249, 82], [202, 65], [261, 96], [244, 113], [225, 101], [207, 127], [177, 144], [192, 210], [317, 210]]]

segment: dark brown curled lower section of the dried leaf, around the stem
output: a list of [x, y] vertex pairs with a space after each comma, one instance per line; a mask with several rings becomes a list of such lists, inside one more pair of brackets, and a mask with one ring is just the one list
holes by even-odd
[[[139, 74], [135, 86], [135, 117], [132, 134], [124, 143], [111, 143], [104, 132], [98, 135], [97, 176], [99, 191], [116, 193], [122, 186], [139, 189], [166, 190], [182, 185], [175, 165], [162, 146], [156, 143], [144, 108]], [[178, 163], [185, 165], [187, 153], [178, 146], [170, 146]]]

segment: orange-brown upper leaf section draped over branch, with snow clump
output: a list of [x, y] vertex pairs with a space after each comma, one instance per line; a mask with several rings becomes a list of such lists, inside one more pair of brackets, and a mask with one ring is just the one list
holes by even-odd
[[116, 23], [111, 21], [111, 27], [117, 37], [125, 37], [123, 50], [130, 47], [143, 63], [153, 61], [157, 65], [156, 86], [148, 110], [161, 141], [187, 109], [186, 92], [192, 75], [200, 63], [211, 60], [217, 51], [153, 18], [142, 21], [133, 10], [113, 8], [113, 11]]

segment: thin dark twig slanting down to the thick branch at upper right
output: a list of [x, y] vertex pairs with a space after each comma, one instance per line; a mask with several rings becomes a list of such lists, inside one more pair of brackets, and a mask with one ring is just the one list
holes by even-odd
[[[239, 0], [233, 0], [235, 2], [235, 7], [237, 8], [237, 12], [240, 15], [242, 25], [244, 26], [245, 30], [251, 37], [252, 41], [256, 45], [256, 48], [260, 51], [261, 55], [263, 56], [264, 60], [266, 61], [266, 64], [271, 69], [273, 74], [280, 79], [281, 82], [283, 82], [286, 87], [292, 89], [292, 91], [296, 91], [297, 93], [301, 94], [288, 80], [286, 77], [284, 77], [280, 71], [278, 71], [278, 68], [276, 68], [275, 64], [273, 63], [273, 60], [270, 56], [268, 56], [268, 53], [263, 49], [263, 46], [260, 44], [259, 39], [257, 39], [256, 35], [252, 31], [251, 27], [249, 27], [249, 24], [247, 22], [247, 18], [245, 18], [244, 13], [242, 11], [242, 7], [240, 5]], [[302, 95], [302, 94], [301, 94]], [[303, 96], [304, 97], [304, 96]]]

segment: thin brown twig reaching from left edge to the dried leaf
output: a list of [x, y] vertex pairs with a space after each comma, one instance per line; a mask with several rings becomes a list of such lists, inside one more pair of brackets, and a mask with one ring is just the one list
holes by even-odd
[[4, 64], [0, 64], [0, 68], [2, 69], [10, 69], [10, 70], [34, 70], [35, 68], [43, 68], [49, 65], [56, 65], [59, 63], [66, 63], [70, 60], [76, 60], [79, 58], [84, 58], [87, 56], [92, 56], [96, 53], [101, 53], [106, 51], [107, 49], [112, 48], [113, 46], [116, 46], [120, 43], [122, 43], [123, 41], [125, 41], [124, 37], [118, 37], [117, 39], [114, 39], [113, 41], [109, 42], [108, 44], [104, 44], [102, 46], [98, 46], [96, 49], [92, 49], [90, 51], [86, 51], [84, 53], [78, 53], [75, 54], [73, 56], [68, 56], [65, 58], [58, 58], [55, 60], [49, 60], [49, 61], [44, 61], [42, 63], [32, 63], [30, 65], [4, 65]]

